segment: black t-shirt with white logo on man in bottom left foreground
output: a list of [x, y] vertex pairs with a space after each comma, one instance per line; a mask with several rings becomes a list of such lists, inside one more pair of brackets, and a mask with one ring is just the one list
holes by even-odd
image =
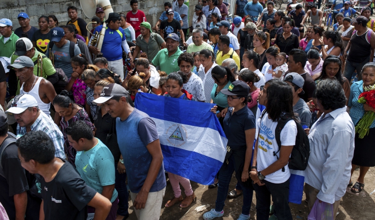
[[45, 182], [42, 176], [37, 176], [44, 201], [45, 219], [84, 220], [87, 213], [86, 205], [96, 191], [86, 185], [68, 161], [61, 160], [64, 164], [50, 182]]

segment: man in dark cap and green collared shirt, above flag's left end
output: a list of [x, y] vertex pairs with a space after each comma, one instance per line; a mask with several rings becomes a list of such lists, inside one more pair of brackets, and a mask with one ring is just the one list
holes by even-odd
[[152, 59], [153, 66], [160, 66], [160, 70], [169, 74], [179, 70], [177, 59], [182, 51], [178, 48], [179, 37], [175, 33], [169, 33], [165, 38], [166, 48], [157, 52]]

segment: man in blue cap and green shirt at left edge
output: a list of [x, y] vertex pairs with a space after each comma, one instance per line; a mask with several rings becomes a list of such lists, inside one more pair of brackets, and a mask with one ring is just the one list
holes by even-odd
[[15, 41], [19, 38], [12, 31], [12, 22], [7, 18], [0, 19], [0, 56], [10, 57], [15, 50]]

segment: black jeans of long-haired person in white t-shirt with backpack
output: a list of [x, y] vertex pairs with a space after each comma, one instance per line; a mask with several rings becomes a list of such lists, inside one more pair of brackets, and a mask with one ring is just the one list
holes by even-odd
[[283, 183], [272, 183], [263, 179], [265, 183], [259, 186], [254, 185], [256, 197], [256, 219], [268, 220], [269, 205], [272, 202], [274, 206], [274, 215], [278, 220], [292, 220], [289, 208], [289, 179]]

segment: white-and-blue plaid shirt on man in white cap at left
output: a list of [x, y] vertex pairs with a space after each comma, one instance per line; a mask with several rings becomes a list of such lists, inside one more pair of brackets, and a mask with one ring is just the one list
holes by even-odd
[[[40, 114], [36, 118], [35, 122], [31, 125], [31, 130], [44, 131], [53, 141], [55, 148], [54, 156], [60, 158], [66, 158], [64, 153], [64, 137], [62, 132], [53, 122], [52, 118], [47, 116], [43, 111], [39, 110]], [[25, 134], [26, 127], [20, 127], [17, 125], [17, 135]]]

